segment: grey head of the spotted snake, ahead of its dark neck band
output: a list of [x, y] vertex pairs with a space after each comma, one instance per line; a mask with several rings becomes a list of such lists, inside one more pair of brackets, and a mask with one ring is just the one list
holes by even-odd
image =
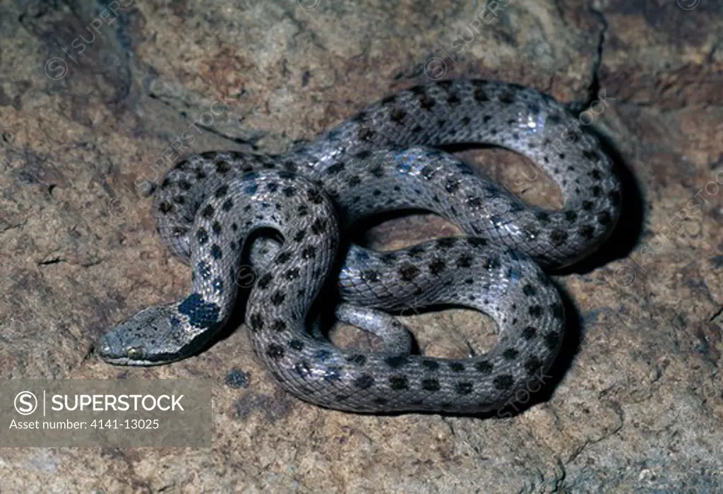
[[176, 307], [150, 307], [111, 328], [98, 345], [100, 358], [114, 365], [160, 365], [187, 357], [194, 336], [183, 330]]

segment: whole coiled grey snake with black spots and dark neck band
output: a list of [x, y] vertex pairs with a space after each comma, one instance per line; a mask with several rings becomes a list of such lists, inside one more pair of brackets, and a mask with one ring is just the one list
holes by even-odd
[[[524, 203], [445, 151], [460, 144], [528, 158], [560, 188], [562, 208]], [[198, 354], [243, 293], [252, 351], [270, 376], [301, 400], [356, 413], [491, 412], [540, 388], [565, 334], [546, 272], [598, 250], [622, 203], [611, 159], [568, 106], [476, 79], [398, 90], [286, 153], [185, 156], [153, 194], [156, 229], [191, 267], [191, 289], [111, 328], [100, 358], [159, 365]], [[462, 234], [391, 251], [349, 240], [364, 218], [406, 210]], [[378, 336], [380, 351], [333, 344], [315, 322], [320, 299], [337, 301], [326, 314]], [[413, 351], [395, 314], [438, 305], [489, 315], [497, 343], [466, 358]]]

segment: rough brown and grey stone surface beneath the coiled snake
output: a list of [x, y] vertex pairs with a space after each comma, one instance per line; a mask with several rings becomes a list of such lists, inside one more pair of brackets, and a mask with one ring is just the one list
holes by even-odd
[[[720, 492], [723, 7], [698, 3], [0, 1], [0, 376], [208, 378], [214, 418], [211, 448], [4, 448], [0, 491]], [[279, 391], [243, 328], [174, 365], [95, 357], [106, 328], [189, 286], [138, 187], [184, 131], [191, 151], [280, 152], [439, 77], [604, 98], [592, 127], [625, 212], [555, 276], [570, 328], [544, 391], [484, 420], [334, 412]], [[463, 156], [559, 203], [513, 153]], [[416, 216], [368, 240], [452, 231]], [[406, 320], [454, 354], [494, 341], [481, 318]]]

